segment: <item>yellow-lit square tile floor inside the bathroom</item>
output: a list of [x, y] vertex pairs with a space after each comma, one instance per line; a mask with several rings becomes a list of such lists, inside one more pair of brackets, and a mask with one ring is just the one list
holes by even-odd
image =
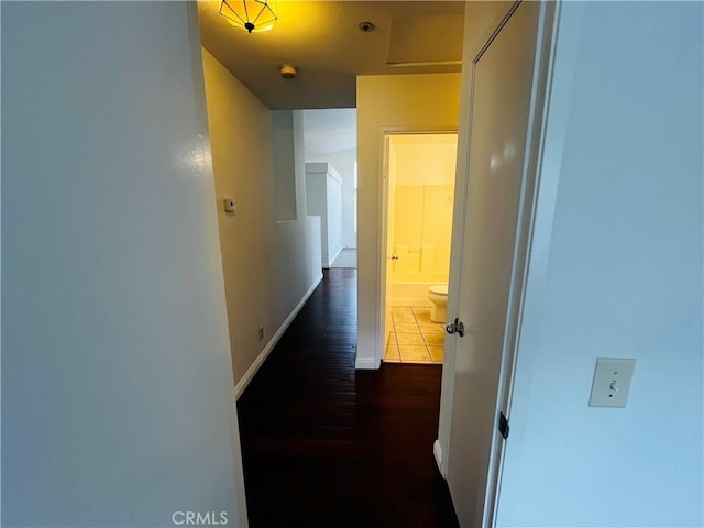
[[430, 308], [394, 306], [384, 361], [442, 363], [444, 324], [430, 320]]

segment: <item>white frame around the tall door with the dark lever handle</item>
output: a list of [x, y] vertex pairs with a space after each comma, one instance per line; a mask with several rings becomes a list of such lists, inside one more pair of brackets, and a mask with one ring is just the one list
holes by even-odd
[[[460, 108], [460, 133], [458, 145], [458, 174], [455, 182], [455, 216], [452, 232], [452, 256], [450, 273], [450, 295], [448, 298], [448, 318], [450, 314], [458, 315], [457, 295], [452, 292], [459, 287], [462, 271], [462, 250], [464, 245], [464, 224], [466, 215], [466, 195], [469, 191], [470, 176], [470, 143], [472, 138], [472, 107], [474, 101], [475, 67], [479, 58], [484, 54], [494, 38], [502, 31], [512, 15], [520, 6], [521, 1], [514, 2], [506, 9], [504, 14], [498, 15], [491, 29], [482, 38], [482, 44], [474, 50], [464, 51], [465, 57], [472, 57], [465, 67], [471, 70], [463, 75], [462, 79], [462, 101]], [[528, 131], [526, 139], [526, 154], [522, 167], [521, 194], [518, 209], [518, 222], [516, 231], [516, 242], [514, 249], [514, 262], [512, 265], [510, 287], [508, 298], [508, 314], [506, 327], [504, 329], [504, 348], [502, 351], [502, 364], [498, 377], [496, 394], [495, 416], [504, 411], [509, 417], [510, 403], [513, 396], [513, 382], [515, 365], [517, 360], [518, 345], [520, 341], [520, 324], [525, 299], [526, 277], [528, 263], [530, 260], [530, 243], [534, 237], [536, 211], [538, 208], [537, 197], [540, 185], [540, 167], [542, 161], [542, 150], [544, 142], [544, 128], [548, 117], [548, 96], [552, 78], [552, 65], [554, 61], [554, 45], [557, 42], [560, 2], [543, 2], [538, 22], [538, 36], [536, 43], [535, 70], [531, 86], [530, 109], [528, 116]], [[454, 251], [457, 249], [457, 252]], [[433, 453], [440, 473], [447, 479], [452, 409], [454, 397], [454, 376], [457, 358], [457, 339], [448, 340], [452, 343], [446, 344], [446, 363], [442, 373], [442, 389], [440, 403], [440, 421], [438, 440], [433, 446]], [[498, 433], [497, 427], [492, 435], [490, 465], [485, 486], [483, 504], [482, 528], [494, 527], [496, 524], [496, 507], [498, 505], [501, 492], [501, 476], [503, 471], [506, 442]]]

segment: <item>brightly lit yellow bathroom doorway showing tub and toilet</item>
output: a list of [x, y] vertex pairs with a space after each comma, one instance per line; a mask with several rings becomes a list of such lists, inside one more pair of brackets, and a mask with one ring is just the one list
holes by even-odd
[[443, 360], [457, 147], [455, 132], [385, 138], [381, 267], [386, 362]]

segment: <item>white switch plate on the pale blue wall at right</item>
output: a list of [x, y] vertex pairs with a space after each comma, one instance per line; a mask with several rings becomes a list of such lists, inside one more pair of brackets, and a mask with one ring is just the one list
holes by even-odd
[[597, 358], [590, 407], [626, 407], [636, 360]]

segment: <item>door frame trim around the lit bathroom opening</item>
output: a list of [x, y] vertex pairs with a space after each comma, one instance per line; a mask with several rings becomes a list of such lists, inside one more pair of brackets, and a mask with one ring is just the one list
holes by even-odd
[[[388, 169], [389, 169], [389, 146], [391, 146], [391, 136], [393, 135], [430, 135], [430, 134], [455, 134], [458, 135], [458, 142], [460, 141], [459, 132], [457, 127], [428, 127], [428, 128], [414, 128], [407, 129], [404, 127], [382, 127], [382, 167], [381, 174], [382, 178], [380, 182], [380, 216], [377, 218], [377, 229], [378, 229], [378, 265], [377, 274], [376, 274], [376, 306], [378, 309], [378, 317], [376, 320], [376, 362], [381, 364], [384, 360], [384, 352], [386, 350], [386, 276], [388, 270], [388, 255], [387, 253], [387, 233], [388, 233]], [[459, 147], [459, 143], [458, 143]], [[457, 167], [455, 167], [457, 170]], [[457, 183], [457, 182], [455, 182]], [[453, 208], [455, 207], [453, 204]], [[454, 221], [454, 213], [453, 213]], [[452, 258], [452, 257], [450, 257]]]

